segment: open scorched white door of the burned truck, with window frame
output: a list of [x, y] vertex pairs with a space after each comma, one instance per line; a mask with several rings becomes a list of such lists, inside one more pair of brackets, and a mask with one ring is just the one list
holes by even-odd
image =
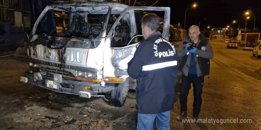
[[[137, 35], [138, 23], [136, 23], [137, 20], [135, 19], [135, 12], [137, 11], [156, 11], [163, 13], [162, 34], [163, 38], [169, 39], [169, 7], [127, 7], [122, 11], [108, 33], [108, 36], [112, 36], [113, 31], [115, 30], [114, 37], [106, 38], [105, 41], [106, 46], [109, 46], [111, 49], [104, 52], [104, 78], [114, 77], [126, 79], [128, 77], [128, 62], [133, 58], [134, 52], [136, 51], [136, 45], [140, 42], [137, 37], [131, 40]], [[117, 46], [118, 44], [121, 45]]]

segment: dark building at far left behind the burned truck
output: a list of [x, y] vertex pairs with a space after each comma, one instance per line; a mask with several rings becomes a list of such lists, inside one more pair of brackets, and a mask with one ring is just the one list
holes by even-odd
[[0, 0], [0, 51], [23, 45], [30, 31], [29, 0]]

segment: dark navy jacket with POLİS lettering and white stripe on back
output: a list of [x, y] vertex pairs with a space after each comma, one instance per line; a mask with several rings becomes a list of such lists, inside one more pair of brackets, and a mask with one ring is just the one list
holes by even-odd
[[137, 45], [128, 63], [128, 74], [138, 79], [139, 113], [156, 114], [173, 109], [177, 77], [177, 54], [174, 45], [155, 32]]

